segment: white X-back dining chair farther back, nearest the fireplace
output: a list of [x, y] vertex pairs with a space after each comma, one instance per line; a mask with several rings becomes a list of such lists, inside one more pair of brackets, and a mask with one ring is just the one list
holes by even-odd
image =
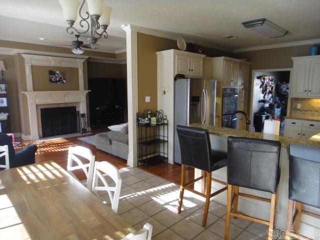
[[[84, 160], [88, 160], [88, 162], [83, 163], [82, 160], [78, 158], [78, 156], [85, 158]], [[76, 163], [76, 164], [74, 165], [73, 163]], [[77, 169], [82, 169], [86, 175], [86, 188], [89, 189], [90, 191], [92, 186], [93, 167], [94, 167], [94, 155], [92, 154], [90, 149], [83, 146], [69, 147], [66, 170], [74, 178], [78, 179], [73, 174], [73, 171]]]

